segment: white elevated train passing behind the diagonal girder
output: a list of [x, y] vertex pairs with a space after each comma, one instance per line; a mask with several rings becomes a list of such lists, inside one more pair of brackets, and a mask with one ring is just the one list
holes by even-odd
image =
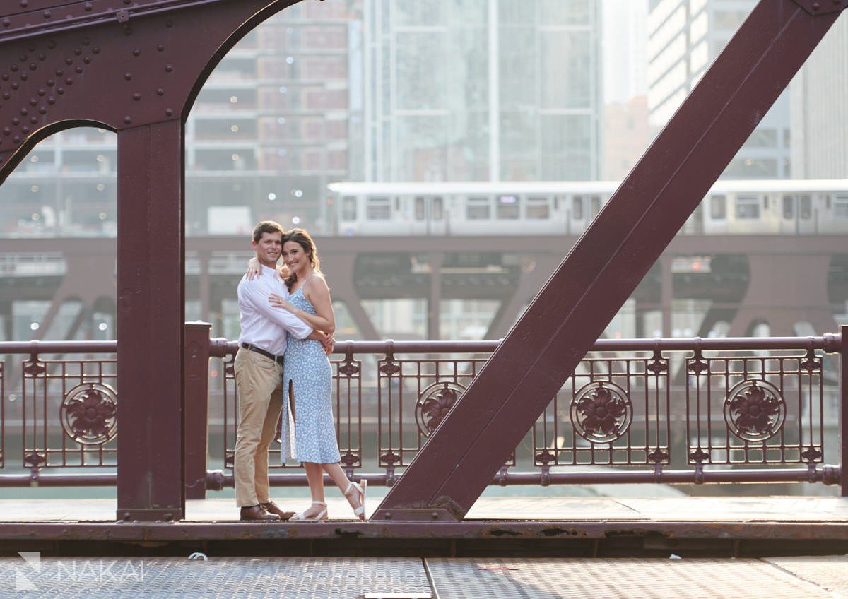
[[[616, 181], [338, 182], [338, 235], [579, 236]], [[688, 235], [848, 232], [848, 180], [719, 180], [681, 231]]]

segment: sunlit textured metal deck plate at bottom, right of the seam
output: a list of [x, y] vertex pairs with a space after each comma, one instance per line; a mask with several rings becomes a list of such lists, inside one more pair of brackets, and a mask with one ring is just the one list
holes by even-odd
[[427, 559], [440, 597], [834, 597], [755, 559]]

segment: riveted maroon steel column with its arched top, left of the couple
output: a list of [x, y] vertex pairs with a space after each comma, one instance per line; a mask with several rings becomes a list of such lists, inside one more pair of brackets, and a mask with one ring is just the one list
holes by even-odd
[[118, 519], [185, 513], [185, 119], [220, 58], [295, 2], [0, 8], [0, 182], [59, 130], [118, 133]]

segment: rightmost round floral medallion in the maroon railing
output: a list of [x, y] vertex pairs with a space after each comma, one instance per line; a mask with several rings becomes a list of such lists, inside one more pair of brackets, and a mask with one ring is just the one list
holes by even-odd
[[778, 433], [786, 404], [778, 388], [765, 380], [743, 380], [724, 400], [724, 420], [743, 441], [766, 441]]

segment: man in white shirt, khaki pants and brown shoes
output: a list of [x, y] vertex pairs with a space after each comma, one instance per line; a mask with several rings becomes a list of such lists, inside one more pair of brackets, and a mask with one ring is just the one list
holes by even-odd
[[298, 339], [331, 342], [321, 331], [312, 330], [286, 310], [268, 301], [272, 293], [288, 297], [288, 290], [276, 272], [282, 252], [282, 226], [264, 220], [254, 228], [253, 247], [262, 275], [244, 277], [238, 284], [238, 308], [242, 334], [235, 359], [238, 388], [238, 431], [236, 435], [236, 503], [243, 520], [289, 519], [271, 501], [268, 483], [268, 448], [276, 435], [282, 412], [282, 361], [286, 352], [286, 331]]

